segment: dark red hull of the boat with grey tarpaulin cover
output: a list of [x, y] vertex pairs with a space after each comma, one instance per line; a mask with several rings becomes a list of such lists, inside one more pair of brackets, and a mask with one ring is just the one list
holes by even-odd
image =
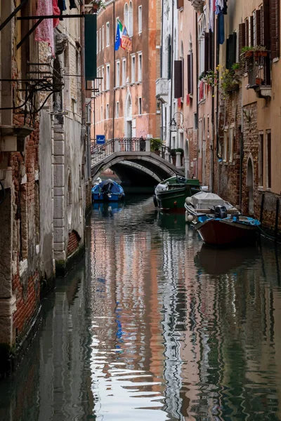
[[197, 222], [195, 229], [204, 243], [211, 246], [244, 246], [256, 241], [258, 227], [242, 222], [226, 220], [206, 220]]

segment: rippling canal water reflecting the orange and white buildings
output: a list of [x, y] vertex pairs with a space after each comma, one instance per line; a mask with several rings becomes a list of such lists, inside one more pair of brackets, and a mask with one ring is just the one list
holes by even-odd
[[95, 205], [1, 421], [281, 420], [280, 250], [202, 246], [152, 198]]

